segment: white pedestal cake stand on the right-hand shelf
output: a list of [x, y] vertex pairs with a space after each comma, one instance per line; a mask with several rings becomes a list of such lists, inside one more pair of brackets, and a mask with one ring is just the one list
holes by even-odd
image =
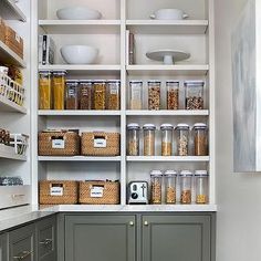
[[158, 50], [147, 52], [146, 56], [154, 61], [164, 62], [164, 64], [175, 64], [176, 62], [184, 61], [190, 58], [190, 53], [177, 50]]

